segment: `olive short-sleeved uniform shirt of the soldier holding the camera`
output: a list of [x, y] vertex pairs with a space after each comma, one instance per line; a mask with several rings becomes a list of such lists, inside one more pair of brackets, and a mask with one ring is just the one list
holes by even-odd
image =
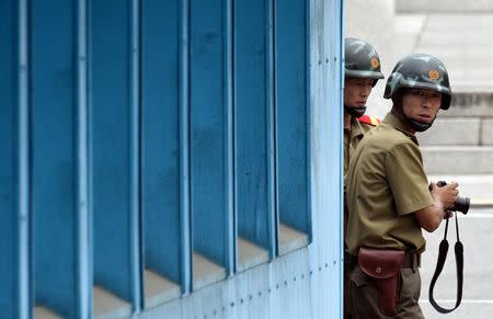
[[421, 252], [414, 212], [433, 205], [417, 139], [392, 113], [365, 135], [349, 160], [346, 243]]

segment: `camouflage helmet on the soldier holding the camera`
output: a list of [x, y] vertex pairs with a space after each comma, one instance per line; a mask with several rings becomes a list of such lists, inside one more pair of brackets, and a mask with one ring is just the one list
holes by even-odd
[[445, 65], [434, 56], [412, 54], [402, 58], [387, 80], [385, 99], [392, 98], [400, 89], [427, 89], [442, 93], [440, 109], [450, 107], [451, 90]]

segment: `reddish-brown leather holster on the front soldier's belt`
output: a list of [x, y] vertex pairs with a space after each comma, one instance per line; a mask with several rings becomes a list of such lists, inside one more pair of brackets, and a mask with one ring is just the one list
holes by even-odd
[[386, 316], [397, 314], [399, 303], [399, 274], [404, 251], [388, 249], [359, 249], [358, 263], [362, 271], [375, 280], [378, 288], [380, 311]]

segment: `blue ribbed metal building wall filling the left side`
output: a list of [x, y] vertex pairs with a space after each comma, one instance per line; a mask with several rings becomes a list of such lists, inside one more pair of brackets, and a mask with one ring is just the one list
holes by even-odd
[[[144, 318], [339, 317], [342, 12], [1, 0], [0, 317], [92, 318], [93, 286]], [[311, 244], [279, 257], [279, 224]], [[239, 237], [271, 262], [238, 274]], [[195, 292], [193, 253], [229, 280]], [[146, 269], [187, 297], [147, 309]]]

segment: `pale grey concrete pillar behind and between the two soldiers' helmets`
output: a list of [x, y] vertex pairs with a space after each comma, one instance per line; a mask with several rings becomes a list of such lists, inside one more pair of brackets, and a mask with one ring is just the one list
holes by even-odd
[[367, 114], [382, 118], [391, 106], [390, 101], [382, 98], [385, 83], [397, 61], [393, 54], [394, 0], [349, 0], [345, 14], [345, 36], [367, 41], [380, 56], [386, 79], [380, 80], [371, 92]]

